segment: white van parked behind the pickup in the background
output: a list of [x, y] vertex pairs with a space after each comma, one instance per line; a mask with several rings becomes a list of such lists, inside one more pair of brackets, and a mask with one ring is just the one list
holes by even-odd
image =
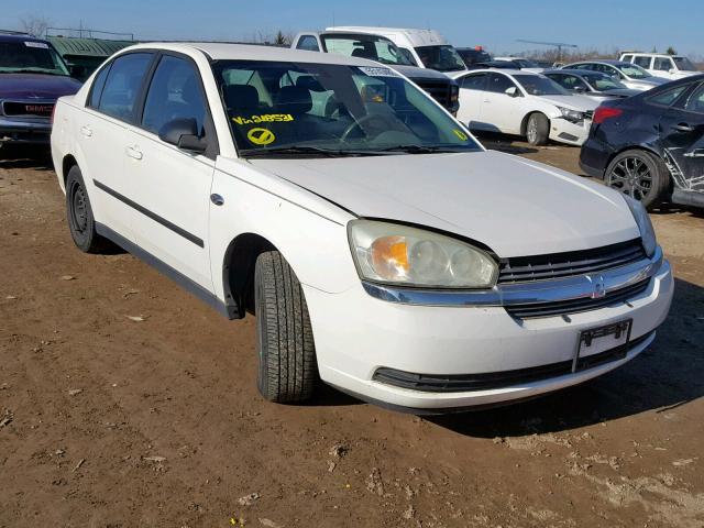
[[328, 28], [326, 31], [348, 31], [385, 36], [398, 46], [414, 66], [420, 68], [437, 69], [447, 75], [466, 69], [466, 64], [458, 51], [436, 30], [338, 25]]

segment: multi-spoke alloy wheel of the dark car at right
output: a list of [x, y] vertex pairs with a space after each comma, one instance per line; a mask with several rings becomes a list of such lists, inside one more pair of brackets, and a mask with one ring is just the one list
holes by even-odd
[[606, 167], [604, 182], [647, 209], [659, 205], [670, 187], [670, 173], [660, 157], [634, 148], [618, 154]]

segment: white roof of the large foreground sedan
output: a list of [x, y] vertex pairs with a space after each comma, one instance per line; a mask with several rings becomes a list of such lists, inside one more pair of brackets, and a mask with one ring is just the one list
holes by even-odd
[[305, 52], [287, 47], [257, 44], [224, 44], [213, 42], [151, 42], [125, 47], [120, 53], [138, 50], [166, 50], [172, 52], [201, 52], [212, 61], [270, 61], [284, 63], [342, 64], [350, 66], [378, 66], [374, 61], [333, 53]]

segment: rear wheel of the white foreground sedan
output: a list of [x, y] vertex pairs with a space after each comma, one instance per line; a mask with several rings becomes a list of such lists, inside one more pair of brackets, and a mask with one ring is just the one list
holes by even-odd
[[70, 237], [84, 253], [101, 253], [110, 242], [96, 232], [96, 221], [80, 168], [74, 165], [66, 178], [66, 216]]

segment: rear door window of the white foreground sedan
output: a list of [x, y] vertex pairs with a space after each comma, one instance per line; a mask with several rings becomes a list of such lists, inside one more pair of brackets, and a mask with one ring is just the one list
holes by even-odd
[[151, 53], [130, 53], [116, 58], [98, 109], [108, 116], [131, 122], [136, 96], [151, 61]]

